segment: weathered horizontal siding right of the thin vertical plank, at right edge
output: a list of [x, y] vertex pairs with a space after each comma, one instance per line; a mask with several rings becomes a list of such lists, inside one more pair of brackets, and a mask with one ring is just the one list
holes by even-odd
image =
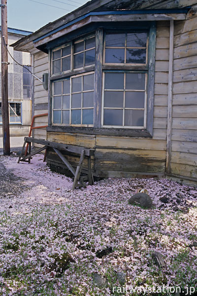
[[197, 178], [197, 14], [175, 22], [172, 103], [171, 173]]

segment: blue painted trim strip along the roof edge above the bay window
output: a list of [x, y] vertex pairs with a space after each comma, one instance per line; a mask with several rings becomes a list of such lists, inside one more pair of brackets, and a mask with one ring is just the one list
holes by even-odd
[[44, 39], [45, 37], [48, 37], [54, 33], [57, 33], [83, 19], [85, 19], [86, 17], [88, 16], [91, 16], [91, 15], [130, 15], [130, 14], [162, 14], [162, 13], [187, 13], [188, 10], [190, 9], [190, 7], [188, 6], [188, 8], [180, 8], [180, 9], [139, 9], [139, 10], [117, 10], [117, 11], [93, 11], [93, 12], [89, 12], [83, 16], [80, 16], [78, 18], [76, 18], [75, 20], [33, 40], [33, 43], [41, 40], [41, 39]]

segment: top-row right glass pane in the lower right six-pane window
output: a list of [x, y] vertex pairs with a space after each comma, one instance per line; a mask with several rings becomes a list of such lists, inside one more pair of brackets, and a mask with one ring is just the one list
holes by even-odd
[[126, 89], [145, 89], [145, 74], [126, 73]]

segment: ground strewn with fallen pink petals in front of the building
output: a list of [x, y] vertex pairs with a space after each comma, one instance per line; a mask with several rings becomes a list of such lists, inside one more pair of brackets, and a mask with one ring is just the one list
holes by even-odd
[[[43, 155], [0, 164], [0, 296], [197, 296], [197, 188], [109, 178], [71, 190]], [[139, 189], [153, 208], [129, 204]]]

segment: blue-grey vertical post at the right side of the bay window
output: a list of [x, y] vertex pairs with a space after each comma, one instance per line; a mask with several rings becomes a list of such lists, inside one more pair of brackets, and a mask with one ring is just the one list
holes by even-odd
[[156, 22], [153, 22], [149, 35], [149, 71], [147, 86], [147, 130], [153, 135], [153, 109], [154, 109], [154, 88], [155, 88], [155, 45], [156, 45]]

